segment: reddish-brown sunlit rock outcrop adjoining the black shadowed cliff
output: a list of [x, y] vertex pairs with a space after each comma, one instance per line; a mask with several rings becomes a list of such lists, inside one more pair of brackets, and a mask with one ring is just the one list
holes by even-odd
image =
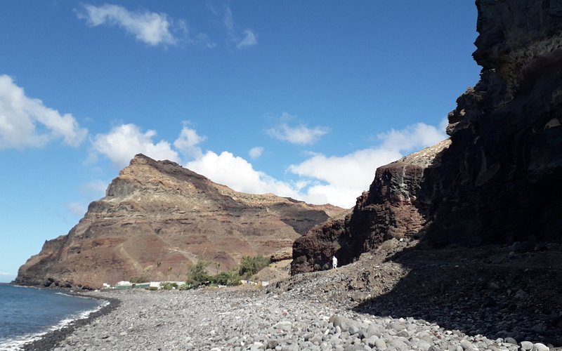
[[443, 140], [377, 168], [369, 191], [358, 197], [353, 211], [294, 241], [291, 273], [327, 269], [332, 255], [340, 264], [350, 263], [393, 237], [418, 237], [429, 213], [429, 204], [418, 199], [424, 172], [438, 166], [449, 145], [450, 140]]

